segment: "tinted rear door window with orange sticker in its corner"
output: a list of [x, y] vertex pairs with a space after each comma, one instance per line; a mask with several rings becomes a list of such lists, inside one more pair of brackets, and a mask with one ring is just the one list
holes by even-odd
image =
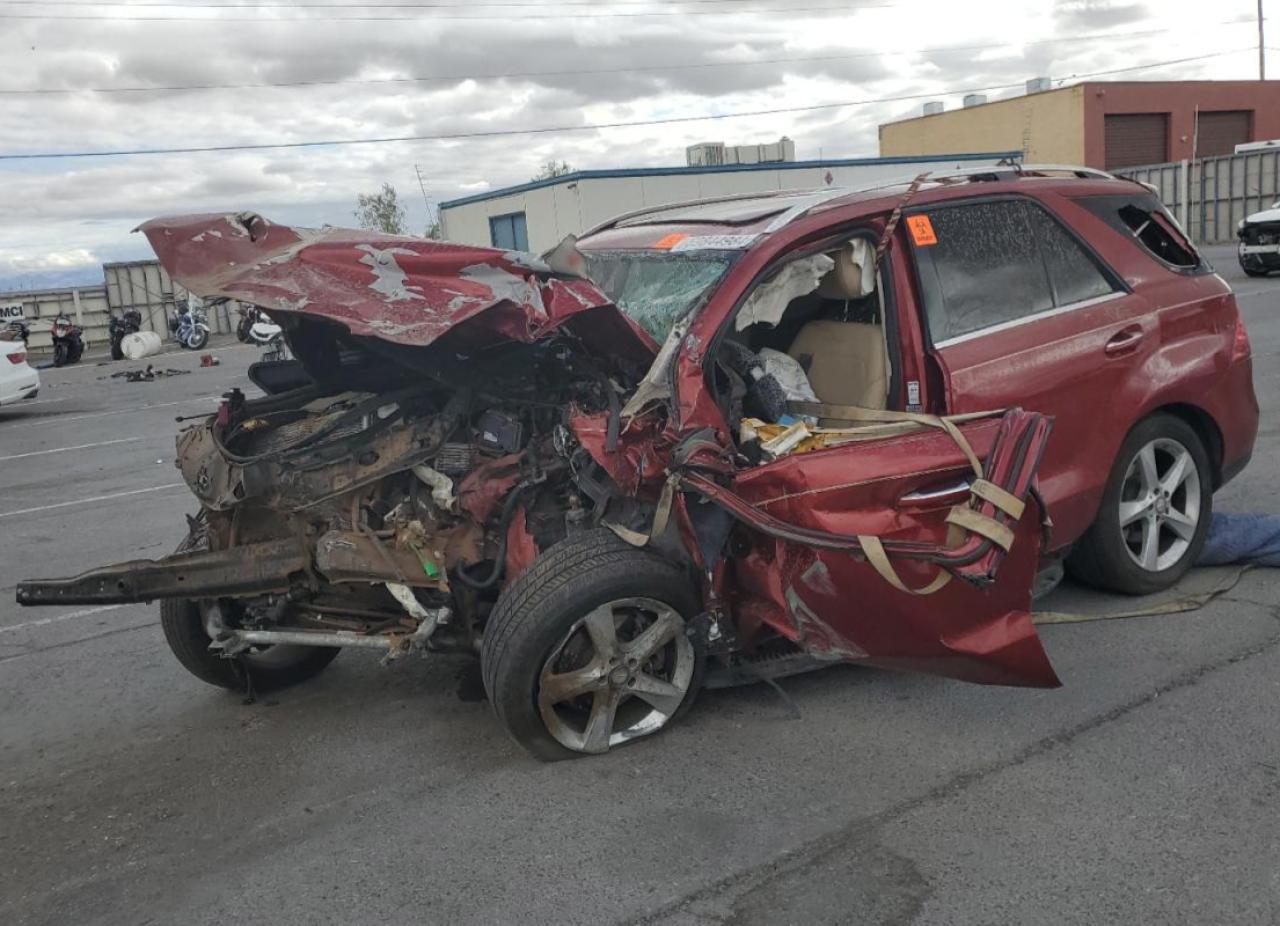
[[1117, 288], [1053, 216], [1025, 200], [948, 205], [919, 215], [932, 231], [920, 236], [913, 228], [911, 238], [936, 345]]

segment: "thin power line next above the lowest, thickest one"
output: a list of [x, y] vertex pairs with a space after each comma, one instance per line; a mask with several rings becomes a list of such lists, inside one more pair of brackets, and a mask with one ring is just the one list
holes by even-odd
[[[1252, 26], [1252, 23], [1239, 20], [1222, 20], [1207, 23], [1207, 26]], [[1100, 32], [1083, 36], [1064, 36], [1060, 38], [1046, 38], [1032, 42], [988, 42], [982, 45], [950, 45], [928, 49], [882, 49], [879, 51], [858, 51], [847, 55], [799, 55], [783, 58], [758, 58], [750, 61], [701, 61], [696, 64], [641, 64], [621, 68], [571, 68], [559, 70], [509, 70], [492, 74], [426, 74], [417, 77], [362, 77], [362, 78], [335, 78], [329, 81], [275, 81], [261, 83], [186, 83], [161, 87], [33, 87], [24, 90], [0, 88], [0, 96], [35, 96], [35, 95], [68, 95], [68, 93], [163, 93], [193, 90], [266, 90], [266, 88], [297, 88], [297, 87], [333, 87], [333, 86], [360, 86], [370, 83], [434, 83], [452, 81], [497, 81], [508, 78], [531, 77], [585, 77], [599, 74], [630, 74], [636, 72], [660, 73], [668, 70], [705, 70], [719, 68], [745, 68], [760, 67], [765, 64], [817, 64], [823, 61], [846, 61], [863, 58], [881, 58], [884, 55], [911, 55], [911, 54], [945, 54], [950, 51], [984, 51], [987, 49], [1004, 47], [1029, 47], [1041, 45], [1065, 45], [1070, 42], [1096, 42], [1116, 38], [1140, 38], [1158, 35], [1169, 35], [1181, 29], [1143, 29], [1137, 32]]]

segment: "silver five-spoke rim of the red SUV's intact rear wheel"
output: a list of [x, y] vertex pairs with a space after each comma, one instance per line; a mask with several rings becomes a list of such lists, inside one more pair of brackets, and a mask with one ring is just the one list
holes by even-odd
[[1199, 469], [1190, 451], [1170, 438], [1138, 451], [1120, 491], [1120, 530], [1129, 558], [1148, 573], [1174, 566], [1196, 539], [1199, 515]]

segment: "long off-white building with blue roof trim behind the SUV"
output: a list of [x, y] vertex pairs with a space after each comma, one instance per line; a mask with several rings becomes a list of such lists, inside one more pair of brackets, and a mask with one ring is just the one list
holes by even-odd
[[[790, 145], [790, 140], [783, 142]], [[463, 245], [541, 252], [567, 234], [581, 234], [605, 219], [637, 209], [733, 193], [859, 187], [910, 179], [924, 170], [982, 167], [1016, 156], [1018, 151], [986, 149], [925, 158], [579, 170], [442, 202], [440, 231], [447, 241]]]

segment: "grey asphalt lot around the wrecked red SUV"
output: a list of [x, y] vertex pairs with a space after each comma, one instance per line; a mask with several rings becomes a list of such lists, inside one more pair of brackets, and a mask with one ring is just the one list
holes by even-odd
[[[1210, 254], [1262, 405], [1217, 506], [1280, 512], [1280, 278]], [[348, 652], [244, 706], [173, 660], [155, 607], [18, 608], [19, 578], [177, 544], [173, 419], [255, 356], [218, 355], [166, 356], [192, 374], [154, 383], [45, 370], [0, 411], [0, 922], [1280, 920], [1265, 570], [1194, 613], [1044, 628], [1059, 690], [836, 667], [785, 680], [794, 708], [707, 692], [662, 736], [554, 766], [465, 660]]]

